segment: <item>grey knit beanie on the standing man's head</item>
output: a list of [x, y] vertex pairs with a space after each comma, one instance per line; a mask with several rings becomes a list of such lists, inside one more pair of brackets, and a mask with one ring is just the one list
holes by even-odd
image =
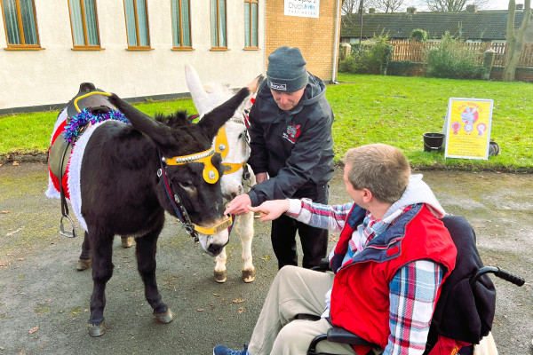
[[268, 56], [267, 83], [275, 91], [294, 92], [307, 84], [306, 59], [301, 51], [286, 45]]

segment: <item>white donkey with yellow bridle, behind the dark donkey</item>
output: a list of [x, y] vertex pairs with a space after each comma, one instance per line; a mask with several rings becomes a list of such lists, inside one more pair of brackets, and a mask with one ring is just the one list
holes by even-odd
[[[227, 86], [219, 84], [202, 85], [200, 77], [195, 68], [186, 65], [185, 77], [187, 86], [195, 102], [196, 110], [202, 119], [204, 114], [209, 113], [213, 108], [219, 106], [234, 95]], [[222, 194], [227, 201], [231, 201], [235, 196], [247, 193], [255, 184], [255, 175], [246, 165], [250, 156], [250, 146], [247, 137], [247, 118], [244, 115], [250, 110], [253, 99], [249, 99], [240, 106], [224, 126], [219, 130], [219, 134], [214, 139], [215, 149], [222, 155], [222, 163], [227, 171], [221, 178]], [[253, 238], [253, 213], [235, 217], [233, 232], [239, 233], [243, 245], [243, 280], [251, 282], [255, 278], [255, 268], [251, 257], [251, 240]], [[215, 280], [225, 282], [227, 254], [226, 248], [215, 258]]]

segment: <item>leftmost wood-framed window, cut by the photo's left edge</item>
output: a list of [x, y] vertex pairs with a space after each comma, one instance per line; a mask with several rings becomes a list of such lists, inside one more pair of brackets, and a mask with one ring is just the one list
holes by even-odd
[[41, 49], [33, 0], [3, 0], [2, 14], [8, 49]]

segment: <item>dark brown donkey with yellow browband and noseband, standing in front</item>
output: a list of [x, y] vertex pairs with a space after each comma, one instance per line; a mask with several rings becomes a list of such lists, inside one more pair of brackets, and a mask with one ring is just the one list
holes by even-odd
[[219, 255], [227, 244], [228, 220], [223, 216], [219, 179], [223, 167], [211, 145], [219, 128], [255, 91], [254, 83], [257, 81], [197, 124], [184, 112], [158, 115], [154, 120], [113, 94], [107, 100], [131, 125], [114, 120], [99, 122], [76, 142], [69, 163], [68, 190], [73, 202], [77, 189], [81, 208], [76, 217], [81, 219], [91, 246], [91, 336], [106, 331], [105, 289], [113, 274], [115, 234], [135, 237], [145, 296], [156, 319], [163, 323], [173, 319], [155, 281], [155, 249], [164, 211], [175, 217], [186, 214], [189, 229], [195, 230], [211, 256]]

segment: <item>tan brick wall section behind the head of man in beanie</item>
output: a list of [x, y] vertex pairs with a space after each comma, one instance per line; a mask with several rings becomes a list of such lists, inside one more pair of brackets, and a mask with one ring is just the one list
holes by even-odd
[[282, 45], [298, 47], [307, 61], [307, 70], [324, 82], [330, 83], [335, 55], [338, 0], [320, 0], [318, 19], [285, 16], [284, 0], [265, 1], [267, 65], [268, 55], [276, 48]]

